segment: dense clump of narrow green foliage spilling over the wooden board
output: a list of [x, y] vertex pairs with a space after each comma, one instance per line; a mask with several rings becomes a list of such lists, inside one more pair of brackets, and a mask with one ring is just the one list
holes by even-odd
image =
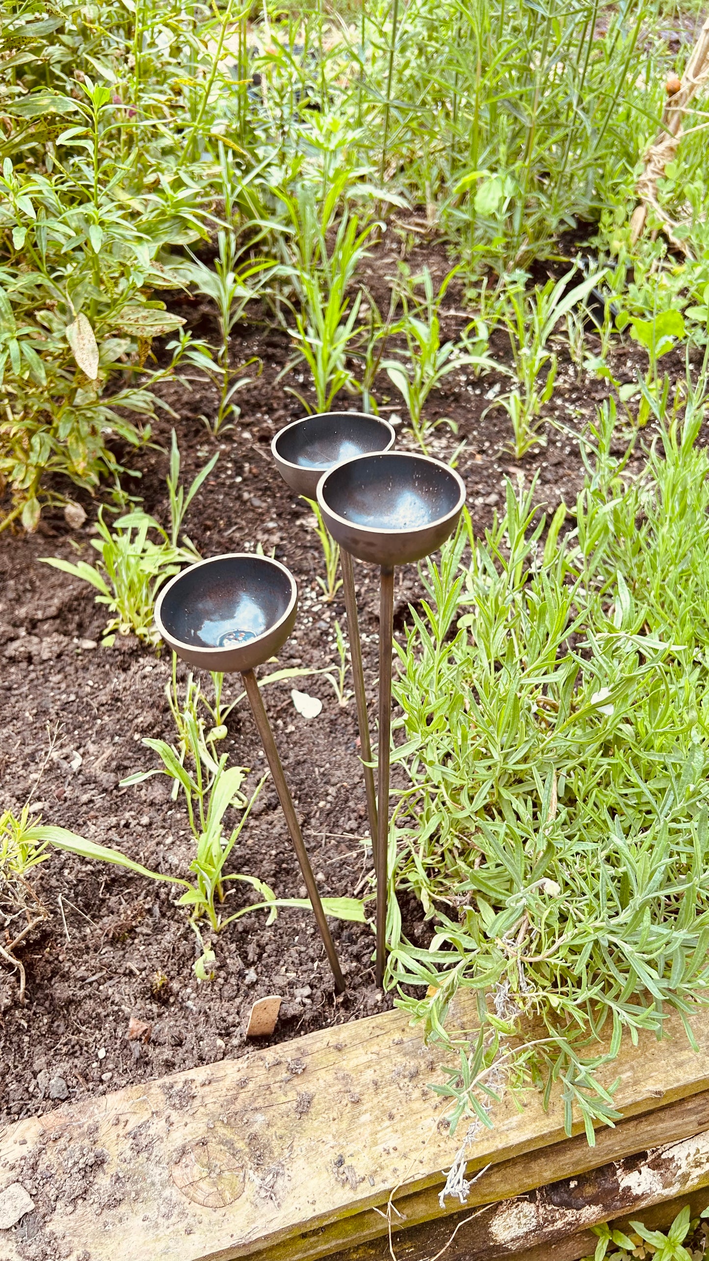
[[[400, 651], [405, 744], [392, 880], [435, 923], [419, 950], [390, 917], [390, 981], [443, 1034], [453, 994], [479, 1034], [443, 1093], [489, 1125], [489, 1073], [548, 1095], [570, 1131], [617, 1116], [599, 1069], [623, 1038], [685, 1023], [709, 986], [709, 460], [688, 407], [645, 475], [592, 431], [575, 527], [507, 488], [502, 520], [429, 564]], [[590, 446], [590, 439], [589, 439]], [[466, 549], [471, 554], [464, 560]], [[530, 1034], [530, 1021], [534, 1034]], [[522, 1034], [512, 1043], [512, 1035]]]

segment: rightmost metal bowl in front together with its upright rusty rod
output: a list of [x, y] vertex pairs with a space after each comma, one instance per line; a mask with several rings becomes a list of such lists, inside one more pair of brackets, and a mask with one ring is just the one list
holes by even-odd
[[[323, 521], [341, 550], [380, 566], [377, 985], [386, 968], [389, 883], [389, 789], [391, 749], [391, 652], [394, 569], [421, 560], [453, 533], [466, 487], [448, 464], [428, 455], [386, 451], [360, 455], [324, 473], [318, 483]], [[342, 551], [341, 551], [342, 554]]]

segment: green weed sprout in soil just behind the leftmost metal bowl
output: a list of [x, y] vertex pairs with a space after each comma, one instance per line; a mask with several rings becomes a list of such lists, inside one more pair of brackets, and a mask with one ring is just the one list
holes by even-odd
[[[103, 630], [105, 647], [112, 646], [116, 634], [132, 633], [149, 644], [159, 642], [153, 620], [158, 591], [184, 564], [199, 560], [194, 543], [187, 537], [178, 543], [178, 537], [184, 514], [217, 459], [218, 453], [197, 474], [185, 493], [184, 487], [178, 484], [180, 456], [173, 430], [168, 473], [169, 532], [143, 508], [119, 517], [111, 528], [100, 508], [96, 522], [98, 538], [91, 540], [92, 547], [101, 555], [98, 565], [88, 565], [87, 561], [73, 564], [58, 556], [42, 557], [43, 564], [90, 583], [98, 593], [96, 603], [106, 604], [115, 614]], [[149, 532], [156, 533], [159, 542], [153, 542]]]

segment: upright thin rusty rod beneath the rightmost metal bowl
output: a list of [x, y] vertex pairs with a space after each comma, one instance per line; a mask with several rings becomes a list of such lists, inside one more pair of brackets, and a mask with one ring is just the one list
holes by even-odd
[[389, 881], [389, 750], [391, 741], [391, 649], [394, 644], [394, 569], [380, 570], [380, 759], [377, 827], [377, 985], [386, 965], [386, 892]]

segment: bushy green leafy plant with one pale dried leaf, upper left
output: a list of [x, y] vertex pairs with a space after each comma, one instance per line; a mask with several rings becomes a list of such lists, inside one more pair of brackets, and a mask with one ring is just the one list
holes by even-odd
[[[67, 502], [63, 478], [96, 492], [121, 472], [116, 439], [141, 445], [164, 406], [151, 387], [183, 348], [154, 368], [151, 344], [184, 320], [154, 295], [183, 288], [168, 251], [208, 236], [230, 175], [213, 129], [245, 91], [220, 52], [235, 18], [231, 0], [218, 14], [175, 0], [4, 9], [1, 528], [34, 530]], [[228, 368], [221, 383], [223, 419]]]

